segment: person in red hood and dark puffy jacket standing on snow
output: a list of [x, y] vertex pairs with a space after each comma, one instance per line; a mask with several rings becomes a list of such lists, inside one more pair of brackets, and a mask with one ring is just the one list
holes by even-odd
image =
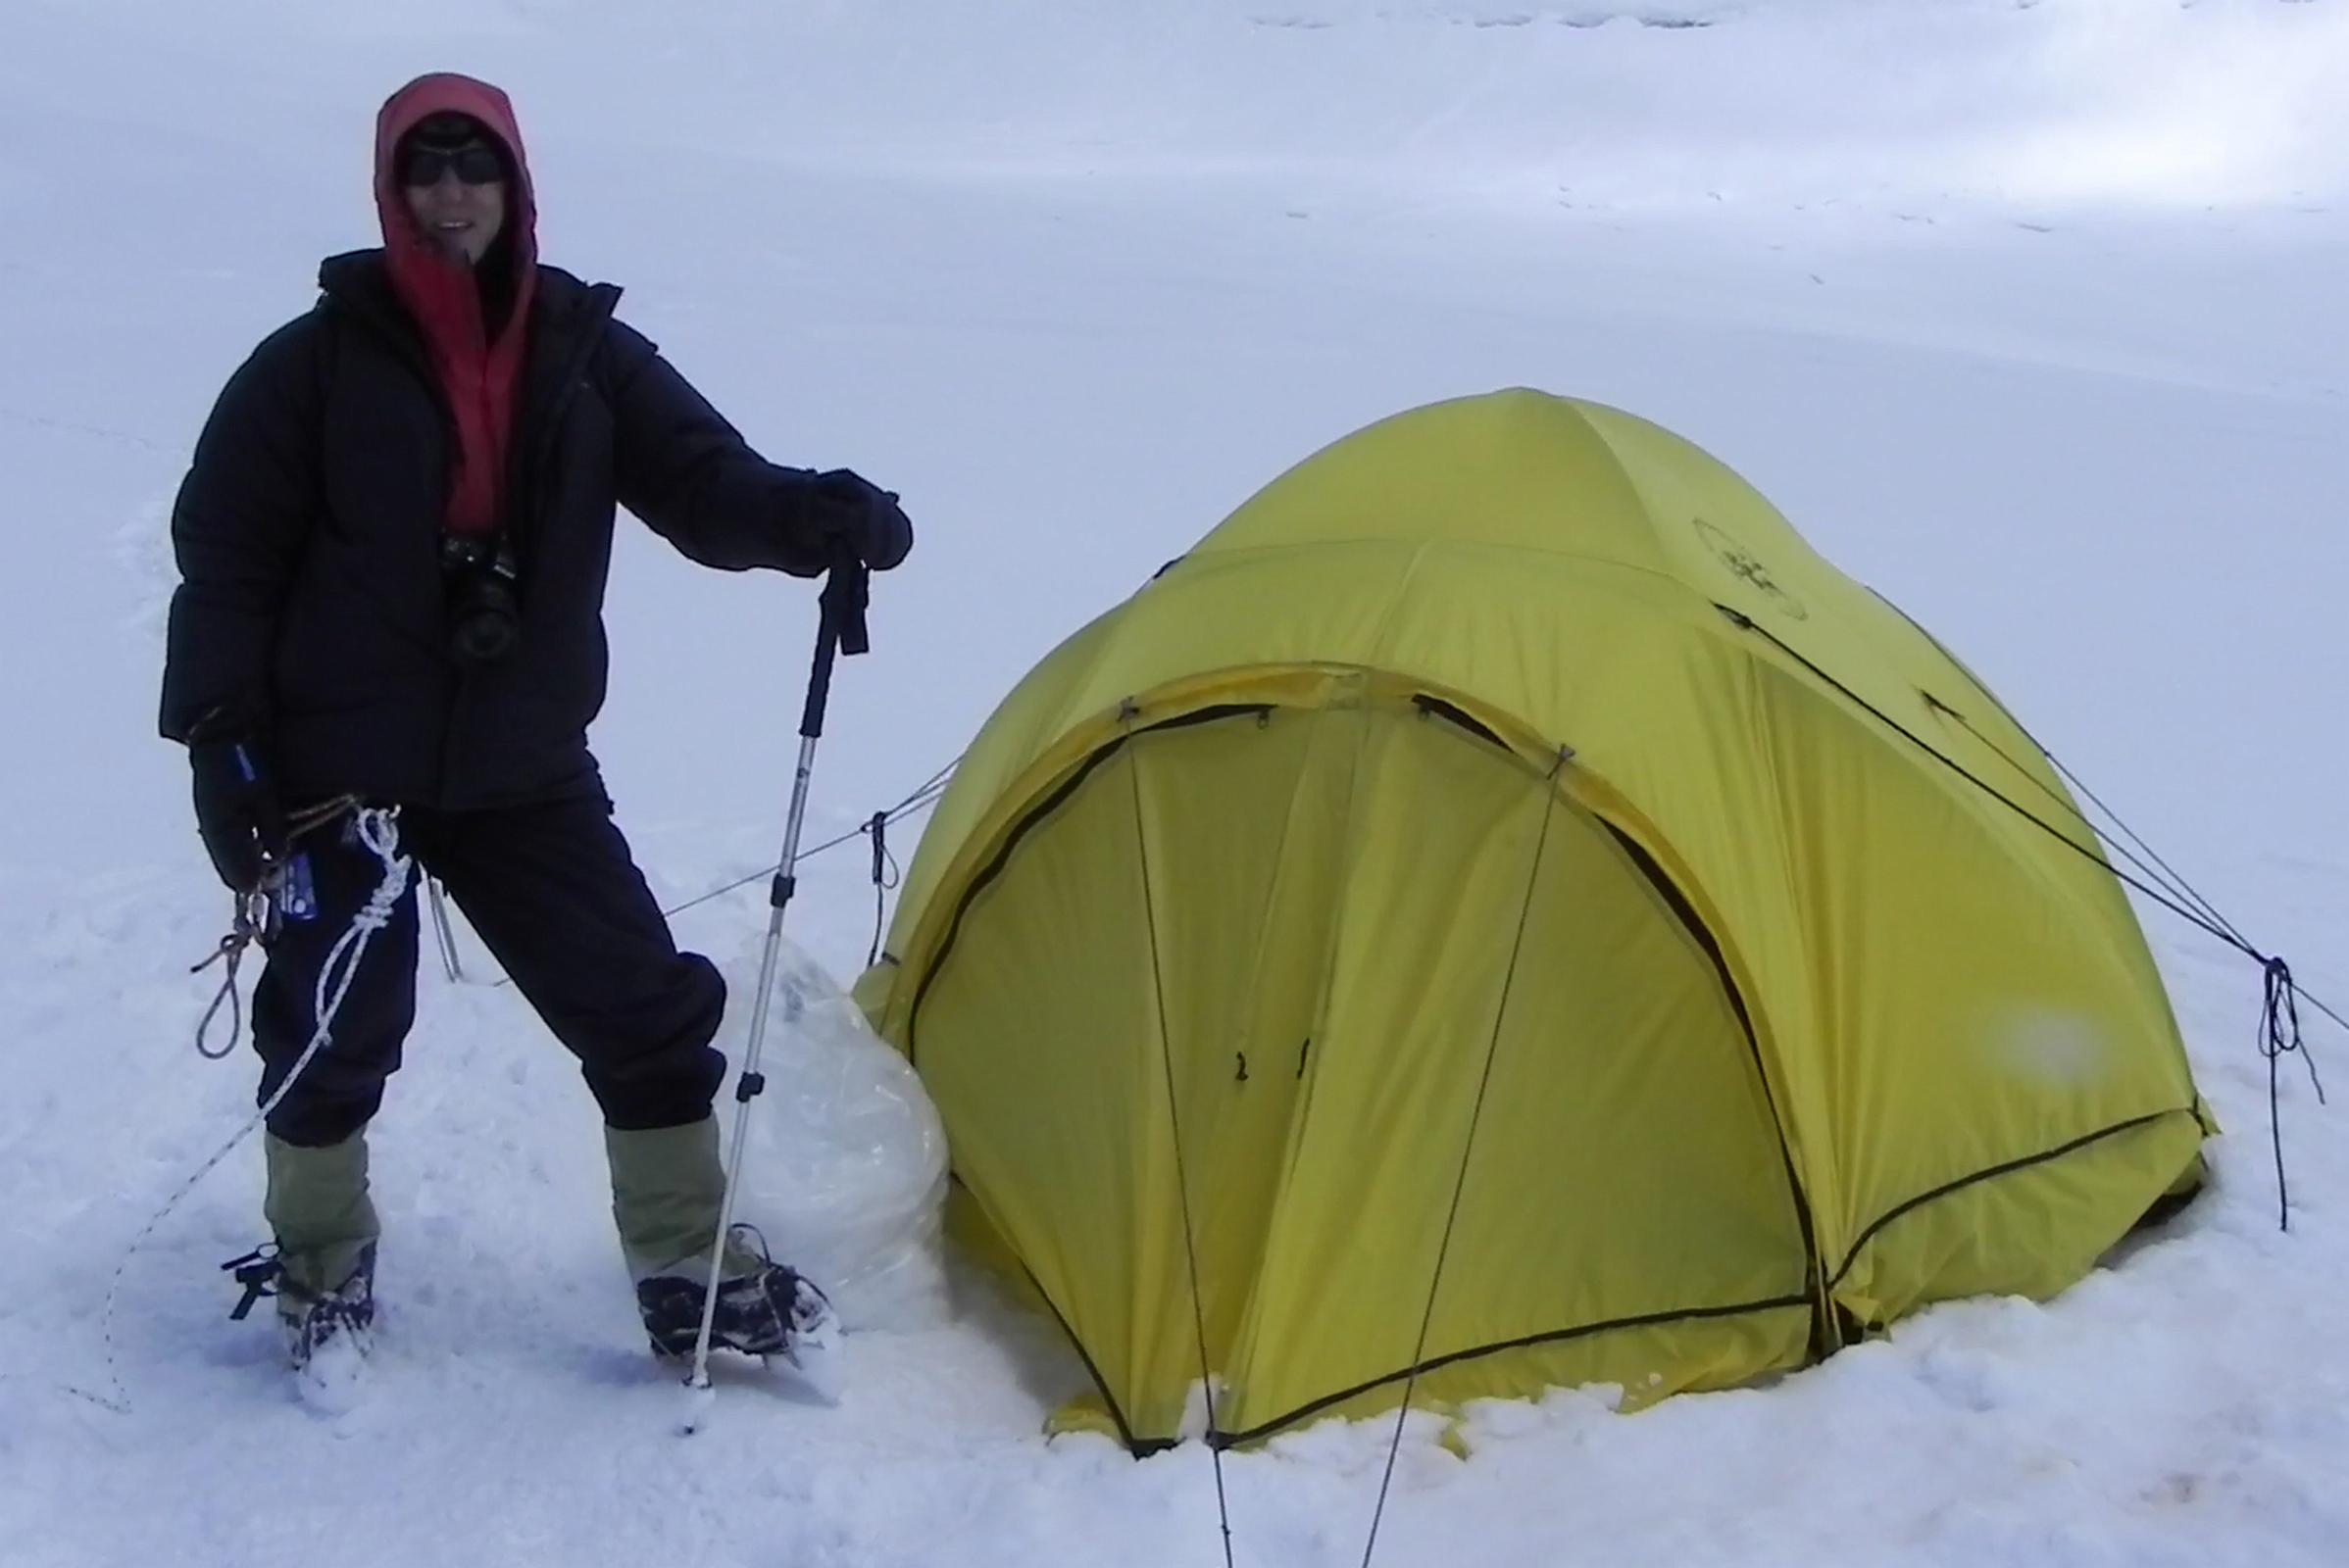
[[[846, 469], [754, 453], [639, 333], [620, 291], [538, 261], [505, 94], [402, 87], [376, 122], [383, 246], [244, 361], [171, 514], [162, 732], [188, 744], [204, 847], [282, 911], [254, 991], [265, 1218], [296, 1364], [373, 1322], [366, 1124], [416, 1009], [416, 901], [366, 948], [298, 1075], [329, 953], [381, 866], [352, 807], [463, 906], [604, 1113], [620, 1244], [655, 1347], [693, 1345], [716, 1239], [716, 969], [679, 953], [611, 822], [604, 702], [615, 507], [728, 570], [897, 566], [911, 523]], [[289, 824], [296, 824], [289, 831]], [[822, 1291], [731, 1244], [716, 1343], [822, 1326]]]

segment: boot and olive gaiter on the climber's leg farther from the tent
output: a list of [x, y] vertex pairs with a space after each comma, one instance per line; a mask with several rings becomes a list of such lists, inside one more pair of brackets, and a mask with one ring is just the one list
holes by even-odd
[[263, 1216], [277, 1237], [277, 1322], [287, 1357], [305, 1368], [336, 1340], [364, 1354], [376, 1322], [376, 1204], [366, 1195], [366, 1134], [301, 1148], [265, 1134]]

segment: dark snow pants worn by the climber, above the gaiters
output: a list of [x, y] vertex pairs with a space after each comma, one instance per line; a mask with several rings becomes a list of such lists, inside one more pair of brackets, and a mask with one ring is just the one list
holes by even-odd
[[[399, 812], [416, 878], [373, 937], [334, 1038], [270, 1113], [287, 1143], [324, 1148], [366, 1127], [416, 1021], [416, 887], [425, 871], [472, 922], [618, 1129], [684, 1127], [709, 1115], [726, 1059], [712, 1049], [726, 984], [679, 953], [601, 796], [479, 812]], [[383, 861], [343, 819], [303, 838], [317, 915], [287, 922], [254, 988], [261, 1099], [310, 1045], [312, 993], [329, 951], [383, 880]]]

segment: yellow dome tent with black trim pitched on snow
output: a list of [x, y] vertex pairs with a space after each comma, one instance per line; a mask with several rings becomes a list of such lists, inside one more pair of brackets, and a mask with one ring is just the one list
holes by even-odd
[[1997, 699], [1696, 446], [1525, 390], [1045, 657], [860, 1000], [1137, 1451], [1203, 1368], [1233, 1444], [2051, 1296], [2213, 1131]]

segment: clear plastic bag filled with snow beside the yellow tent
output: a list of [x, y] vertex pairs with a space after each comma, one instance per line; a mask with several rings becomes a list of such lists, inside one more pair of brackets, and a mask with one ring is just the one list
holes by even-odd
[[[726, 965], [719, 1047], [740, 1070], [766, 939]], [[848, 1329], [947, 1319], [947, 1131], [904, 1056], [789, 939], [775, 958], [766, 1094], [752, 1101], [735, 1218], [815, 1279]], [[721, 1103], [723, 1108], [723, 1103]]]

